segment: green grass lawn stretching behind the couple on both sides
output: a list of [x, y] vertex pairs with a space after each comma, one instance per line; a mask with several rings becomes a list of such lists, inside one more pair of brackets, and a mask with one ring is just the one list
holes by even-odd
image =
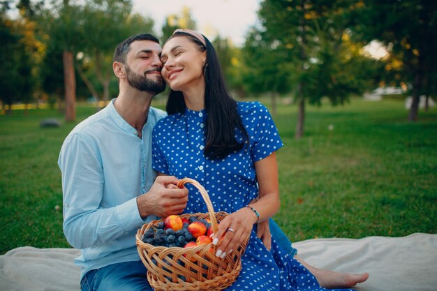
[[[77, 122], [95, 112], [77, 110]], [[399, 100], [308, 106], [300, 140], [294, 138], [296, 112], [295, 105], [281, 105], [275, 117], [285, 144], [278, 153], [275, 219], [292, 241], [437, 232], [436, 108], [411, 124]], [[0, 116], [0, 253], [69, 247], [57, 157], [75, 124], [40, 128], [48, 117], [63, 120], [57, 110]]]

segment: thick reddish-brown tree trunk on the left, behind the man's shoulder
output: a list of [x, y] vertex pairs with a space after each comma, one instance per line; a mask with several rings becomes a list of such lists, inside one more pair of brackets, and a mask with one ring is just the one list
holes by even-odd
[[74, 121], [76, 119], [76, 79], [73, 53], [64, 50], [62, 60], [64, 62], [65, 118], [66, 121]]

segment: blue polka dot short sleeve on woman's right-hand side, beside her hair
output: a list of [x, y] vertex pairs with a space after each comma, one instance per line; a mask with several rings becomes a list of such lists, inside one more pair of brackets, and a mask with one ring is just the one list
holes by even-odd
[[272, 116], [265, 105], [255, 103], [249, 124], [253, 128], [252, 159], [260, 161], [283, 147]]

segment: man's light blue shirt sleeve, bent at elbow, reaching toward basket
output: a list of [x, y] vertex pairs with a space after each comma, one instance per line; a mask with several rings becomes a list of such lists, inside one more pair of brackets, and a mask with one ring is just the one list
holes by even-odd
[[91, 137], [66, 138], [59, 155], [64, 199], [64, 234], [75, 248], [108, 244], [142, 225], [136, 198], [110, 208], [103, 200], [103, 164]]

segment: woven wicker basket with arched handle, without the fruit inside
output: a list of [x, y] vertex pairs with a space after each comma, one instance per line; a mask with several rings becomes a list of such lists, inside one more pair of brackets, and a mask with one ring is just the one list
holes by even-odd
[[[182, 187], [186, 183], [198, 188], [207, 204], [208, 213], [182, 214], [180, 217], [209, 219], [214, 232], [217, 232], [217, 221], [222, 221], [228, 214], [214, 213], [209, 195], [198, 181], [186, 178], [180, 180], [177, 186]], [[242, 269], [241, 257], [249, 237], [223, 259], [216, 257], [216, 246], [213, 244], [201, 244], [193, 248], [167, 248], [143, 242], [145, 232], [161, 221], [164, 218], [143, 225], [135, 236], [138, 253], [147, 268], [147, 280], [154, 290], [223, 290], [235, 282]]]

